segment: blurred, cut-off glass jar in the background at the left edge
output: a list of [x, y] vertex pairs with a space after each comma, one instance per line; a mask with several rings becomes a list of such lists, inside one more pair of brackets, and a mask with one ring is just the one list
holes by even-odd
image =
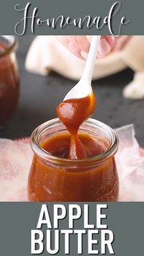
[[19, 100], [19, 72], [12, 35], [0, 35], [0, 126], [12, 117]]

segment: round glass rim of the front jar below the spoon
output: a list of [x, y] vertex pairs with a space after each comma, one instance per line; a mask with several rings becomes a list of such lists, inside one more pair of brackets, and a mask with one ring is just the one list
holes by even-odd
[[[64, 159], [58, 156], [53, 156], [52, 154], [48, 153], [48, 151], [45, 151], [45, 149], [42, 149], [42, 147], [39, 144], [38, 138], [40, 134], [43, 131], [46, 131], [50, 125], [55, 125], [55, 124], [62, 124], [58, 118], [54, 118], [52, 120], [48, 120], [45, 123], [42, 123], [42, 125], [39, 125], [37, 128], [35, 128], [35, 131], [33, 131], [32, 136], [31, 136], [31, 147], [32, 150], [35, 152], [37, 156], [40, 156], [42, 159], [45, 159], [46, 161], [53, 162], [55, 164], [60, 164], [64, 166], [89, 166], [89, 165], [94, 165], [98, 164], [99, 162], [104, 162], [109, 157], [112, 157], [118, 149], [118, 144], [119, 140], [117, 138], [117, 134], [115, 131], [109, 127], [109, 125], [106, 125], [105, 123], [100, 122], [99, 120], [95, 120], [92, 118], [89, 118], [86, 120], [82, 125], [84, 124], [89, 124], [89, 125], [96, 125], [97, 128], [103, 129], [103, 131], [106, 131], [109, 133], [111, 136], [111, 142], [109, 145], [109, 148], [104, 151], [102, 154], [99, 154], [97, 156], [91, 156], [86, 159]], [[63, 125], [63, 124], [62, 124]], [[64, 126], [64, 125], [63, 125]]]

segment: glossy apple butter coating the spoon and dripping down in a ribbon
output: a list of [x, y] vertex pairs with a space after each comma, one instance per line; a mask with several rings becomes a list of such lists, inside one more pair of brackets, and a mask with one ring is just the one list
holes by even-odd
[[94, 156], [92, 147], [86, 146], [78, 137], [78, 128], [94, 112], [96, 99], [94, 93], [80, 99], [66, 100], [57, 107], [58, 118], [71, 134], [68, 159], [85, 159]]

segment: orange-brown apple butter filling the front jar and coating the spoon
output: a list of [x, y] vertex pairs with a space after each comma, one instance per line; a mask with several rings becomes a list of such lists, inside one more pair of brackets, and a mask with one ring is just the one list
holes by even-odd
[[[91, 156], [107, 151], [109, 141], [104, 137], [78, 132], [81, 123], [91, 116], [95, 107], [96, 100], [93, 93], [88, 97], [66, 100], [58, 105], [58, 118], [69, 133], [54, 132], [55, 135], [48, 136], [40, 144], [42, 149], [56, 157], [55, 162], [50, 162], [49, 159], [47, 161], [40, 156], [34, 156], [28, 183], [30, 200], [55, 202], [117, 200], [119, 185], [114, 157], [101, 163], [95, 160], [91, 165], [93, 159]], [[67, 164], [66, 159], [70, 159]], [[82, 162], [78, 161], [79, 159], [83, 159]], [[74, 162], [74, 167], [71, 161]]]

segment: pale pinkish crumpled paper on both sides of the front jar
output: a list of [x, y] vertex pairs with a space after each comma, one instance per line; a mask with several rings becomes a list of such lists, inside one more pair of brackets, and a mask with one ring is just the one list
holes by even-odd
[[[144, 149], [139, 148], [133, 125], [116, 131], [120, 139], [116, 154], [120, 201], [144, 201]], [[0, 201], [27, 201], [31, 162], [29, 139], [0, 139]]]

